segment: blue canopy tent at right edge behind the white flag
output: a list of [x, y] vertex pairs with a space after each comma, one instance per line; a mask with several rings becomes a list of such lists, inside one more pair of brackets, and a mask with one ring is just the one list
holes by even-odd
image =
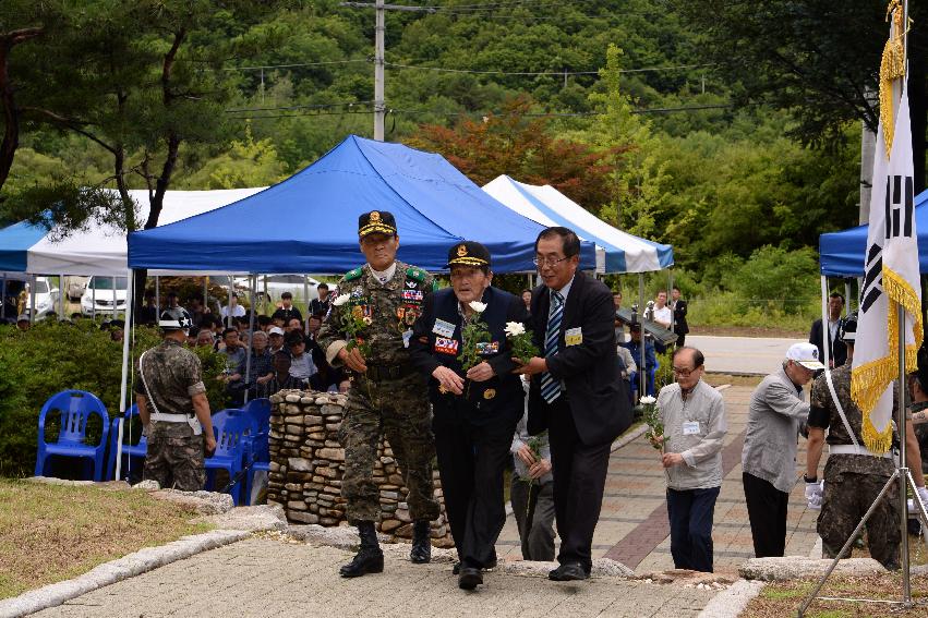
[[[819, 237], [822, 277], [863, 277], [868, 226], [857, 226]], [[915, 196], [915, 229], [918, 233], [918, 265], [928, 272], [928, 191]]]

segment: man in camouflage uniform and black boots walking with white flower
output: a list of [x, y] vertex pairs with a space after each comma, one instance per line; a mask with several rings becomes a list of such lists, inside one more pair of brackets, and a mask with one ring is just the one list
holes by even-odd
[[345, 447], [341, 495], [348, 501], [348, 521], [358, 526], [361, 549], [341, 567], [342, 577], [384, 568], [374, 529], [381, 512], [379, 494], [372, 478], [382, 434], [409, 488], [413, 562], [431, 559], [429, 522], [438, 517], [427, 386], [425, 377], [411, 366], [407, 350], [412, 325], [434, 280], [424, 270], [396, 259], [399, 237], [391, 214], [373, 210], [361, 215], [358, 235], [367, 263], [341, 278], [339, 298], [317, 336], [329, 364], [346, 365], [355, 375], [340, 432]]

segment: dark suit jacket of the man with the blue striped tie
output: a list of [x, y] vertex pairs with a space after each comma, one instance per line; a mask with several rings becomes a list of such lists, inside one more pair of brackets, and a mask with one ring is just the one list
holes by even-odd
[[[532, 292], [531, 314], [542, 353], [550, 307], [550, 290], [539, 286]], [[547, 368], [555, 379], [564, 380], [577, 434], [586, 445], [610, 443], [631, 425], [631, 404], [616, 361], [614, 319], [610, 289], [578, 271], [564, 305], [558, 351], [547, 359]], [[574, 328], [580, 329], [582, 341], [568, 347], [565, 332]], [[547, 428], [551, 405], [541, 397], [541, 375], [532, 376], [529, 389], [531, 434]]]

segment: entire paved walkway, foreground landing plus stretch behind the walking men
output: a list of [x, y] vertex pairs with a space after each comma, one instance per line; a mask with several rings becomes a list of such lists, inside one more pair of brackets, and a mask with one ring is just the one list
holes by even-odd
[[[730, 387], [722, 391], [730, 433], [713, 538], [716, 572], [731, 579], [754, 555], [740, 484], [740, 449], [751, 390]], [[802, 450], [799, 465], [804, 459]], [[673, 568], [664, 473], [655, 451], [639, 437], [613, 452], [593, 540], [594, 557], [618, 560], [639, 575]], [[787, 555], [808, 556], [817, 540], [816, 516], [806, 510], [803, 487], [797, 484], [790, 500]], [[521, 559], [511, 516], [497, 553], [506, 564]], [[540, 573], [514, 573], [516, 569], [510, 567], [515, 565], [486, 573], [485, 585], [468, 593], [457, 587], [449, 564], [417, 566], [407, 555], [405, 548], [390, 548], [383, 574], [344, 580], [338, 567], [350, 559], [350, 550], [262, 534], [101, 587], [36, 616], [686, 617], [699, 616], [720, 594], [718, 587], [683, 579], [656, 583], [602, 577], [555, 583]], [[724, 598], [719, 596], [715, 605], [731, 605]], [[726, 614], [709, 606], [707, 615]]]

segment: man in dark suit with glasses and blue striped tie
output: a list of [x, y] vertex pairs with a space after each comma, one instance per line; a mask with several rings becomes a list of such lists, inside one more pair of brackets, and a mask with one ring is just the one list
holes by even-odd
[[532, 294], [531, 314], [544, 358], [520, 368], [532, 376], [529, 433], [549, 429], [561, 534], [561, 566], [549, 573], [555, 581], [590, 575], [610, 446], [631, 424], [616, 360], [612, 292], [577, 272], [579, 263], [580, 240], [573, 230], [539, 234], [535, 264], [543, 284]]

